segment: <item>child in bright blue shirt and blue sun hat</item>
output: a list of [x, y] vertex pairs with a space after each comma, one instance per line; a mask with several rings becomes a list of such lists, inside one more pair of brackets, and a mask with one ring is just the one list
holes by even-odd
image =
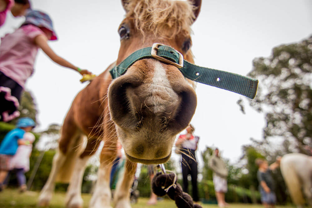
[[0, 191], [2, 183], [10, 171], [10, 162], [17, 151], [18, 145], [30, 144], [27, 140], [22, 140], [24, 133], [31, 131], [36, 123], [30, 118], [21, 118], [17, 121], [15, 129], [11, 130], [4, 137], [0, 145]]

